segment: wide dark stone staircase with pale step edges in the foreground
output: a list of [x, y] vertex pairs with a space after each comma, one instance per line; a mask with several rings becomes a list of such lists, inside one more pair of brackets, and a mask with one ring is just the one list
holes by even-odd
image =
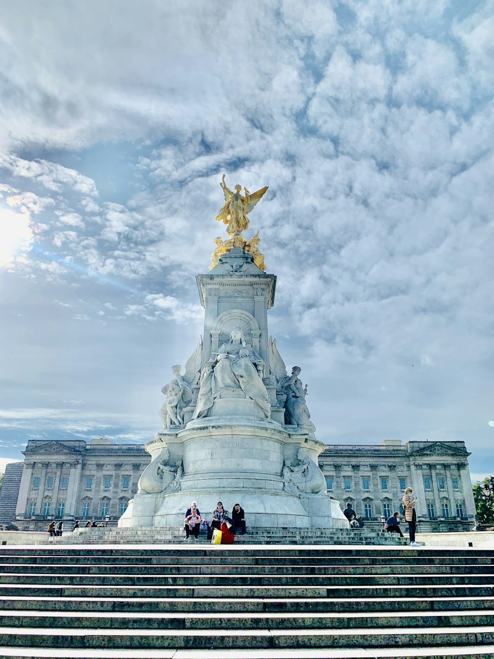
[[0, 657], [494, 657], [494, 551], [0, 548]]

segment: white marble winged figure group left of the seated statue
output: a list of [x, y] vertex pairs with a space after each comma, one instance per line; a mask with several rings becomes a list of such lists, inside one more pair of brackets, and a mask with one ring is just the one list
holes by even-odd
[[181, 426], [184, 422], [184, 409], [192, 403], [192, 387], [199, 382], [202, 359], [202, 337], [199, 338], [196, 349], [185, 365], [182, 376], [182, 366], [172, 366], [175, 378], [166, 384], [161, 391], [166, 400], [159, 410], [163, 428]]

